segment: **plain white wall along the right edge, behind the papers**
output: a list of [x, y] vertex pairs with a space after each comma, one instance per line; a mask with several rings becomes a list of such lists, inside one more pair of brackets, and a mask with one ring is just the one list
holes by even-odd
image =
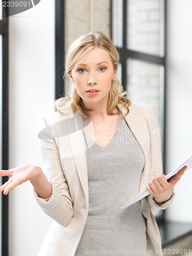
[[[167, 170], [192, 155], [192, 1], [167, 1]], [[167, 219], [192, 222], [192, 169], [176, 185]]]

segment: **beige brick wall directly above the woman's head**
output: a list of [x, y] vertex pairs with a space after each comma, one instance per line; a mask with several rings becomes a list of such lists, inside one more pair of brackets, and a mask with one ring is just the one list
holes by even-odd
[[82, 34], [102, 31], [110, 34], [110, 0], [66, 0], [65, 44]]

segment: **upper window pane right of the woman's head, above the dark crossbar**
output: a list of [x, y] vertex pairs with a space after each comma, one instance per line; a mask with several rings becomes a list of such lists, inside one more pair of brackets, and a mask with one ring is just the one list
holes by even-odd
[[164, 56], [164, 0], [127, 0], [127, 48]]

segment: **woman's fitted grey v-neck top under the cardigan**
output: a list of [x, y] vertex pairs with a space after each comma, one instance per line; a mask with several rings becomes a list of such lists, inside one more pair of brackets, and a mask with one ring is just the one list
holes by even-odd
[[89, 214], [75, 255], [146, 254], [140, 202], [120, 208], [139, 193], [144, 167], [140, 145], [123, 117], [105, 147], [93, 144], [88, 136], [86, 140]]

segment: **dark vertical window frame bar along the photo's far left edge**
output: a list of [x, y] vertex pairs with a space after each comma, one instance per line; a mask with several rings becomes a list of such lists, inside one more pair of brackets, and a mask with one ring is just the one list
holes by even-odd
[[[5, 7], [8, 9], [8, 7]], [[8, 13], [8, 12], [7, 12]], [[3, 18], [0, 20], [0, 34], [2, 34], [2, 169], [9, 169], [9, 17], [3, 8]], [[8, 181], [8, 177], [2, 177], [2, 183]], [[2, 255], [8, 256], [8, 218], [9, 196], [2, 194]]]

